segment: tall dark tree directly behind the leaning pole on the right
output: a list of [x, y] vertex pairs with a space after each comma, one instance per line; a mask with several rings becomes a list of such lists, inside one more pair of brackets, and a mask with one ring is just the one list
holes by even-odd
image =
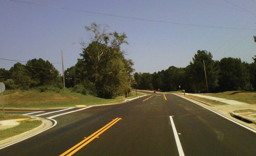
[[187, 78], [191, 82], [190, 88], [193, 92], [206, 92], [204, 63], [209, 90], [218, 87], [219, 68], [212, 60], [211, 53], [206, 50], [198, 50], [186, 70]]

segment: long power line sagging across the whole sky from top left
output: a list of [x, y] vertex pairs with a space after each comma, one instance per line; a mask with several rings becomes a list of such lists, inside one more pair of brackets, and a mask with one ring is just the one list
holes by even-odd
[[56, 7], [56, 6], [51, 6], [51, 5], [41, 5], [41, 4], [37, 4], [37, 3], [24, 2], [24, 1], [19, 1], [19, 0], [10, 0], [10, 1], [26, 3], [26, 4], [30, 4], [30, 5], [38, 5], [38, 6], [43, 6], [43, 7], [52, 7], [52, 8], [71, 10], [71, 11], [85, 12], [85, 13], [90, 13], [90, 14], [99, 14], [99, 15], [104, 15], [104, 16], [114, 16], [114, 17], [119, 17], [119, 18], [134, 19], [134, 20], [140, 20], [140, 21], [150, 21], [150, 22], [157, 22], [157, 23], [168, 23], [168, 24], [175, 24], [175, 25], [186, 25], [186, 26], [195, 26], [195, 27], [206, 27], [206, 28], [256, 30], [256, 29], [249, 29], [249, 28], [245, 29], [245, 28], [232, 28], [232, 27], [218, 27], [218, 26], [211, 26], [211, 25], [197, 25], [197, 24], [176, 23], [176, 22], [168, 22], [168, 21], [157, 21], [157, 20], [150, 20], [150, 19], [145, 19], [145, 18], [135, 18], [135, 17], [128, 17], [128, 16], [119, 16], [119, 15], [114, 15], [114, 14], [103, 14], [103, 13], [99, 13], [99, 12], [92, 12], [92, 11], [85, 11], [85, 10], [78, 10], [78, 9], [70, 9], [70, 8], [65, 8], [65, 7]]

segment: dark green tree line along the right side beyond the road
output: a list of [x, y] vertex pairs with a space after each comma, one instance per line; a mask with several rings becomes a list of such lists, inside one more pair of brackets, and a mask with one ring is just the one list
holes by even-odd
[[[133, 87], [161, 91], [185, 89], [186, 92], [206, 93], [232, 90], [256, 90], [256, 56], [251, 64], [240, 58], [212, 60], [206, 50], [198, 50], [185, 68], [174, 66], [157, 73], [134, 73]], [[204, 64], [206, 76], [204, 72]]]

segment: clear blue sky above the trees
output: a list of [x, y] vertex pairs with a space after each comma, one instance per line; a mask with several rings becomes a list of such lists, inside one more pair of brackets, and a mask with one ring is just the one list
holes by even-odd
[[[90, 43], [84, 26], [96, 22], [109, 25], [108, 32], [125, 32], [129, 45], [122, 46], [136, 72], [161, 71], [170, 66], [186, 67], [197, 50], [208, 50], [213, 60], [240, 57], [251, 63], [256, 55], [256, 0], [21, 0], [40, 5], [0, 0], [0, 58], [27, 61], [42, 58], [76, 64], [82, 53], [78, 43]], [[230, 4], [230, 3], [232, 4]], [[55, 7], [46, 7], [49, 5]], [[236, 6], [235, 6], [236, 5]], [[81, 11], [142, 18], [121, 18]], [[176, 25], [159, 23], [185, 23]], [[0, 60], [10, 69], [13, 61]], [[62, 73], [62, 64], [54, 64]]]

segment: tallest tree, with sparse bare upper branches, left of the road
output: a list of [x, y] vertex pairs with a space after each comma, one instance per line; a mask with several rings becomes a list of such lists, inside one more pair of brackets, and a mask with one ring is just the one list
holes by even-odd
[[133, 62], [126, 60], [121, 51], [121, 44], [128, 44], [126, 34], [106, 33], [107, 26], [92, 23], [85, 29], [93, 34], [92, 42], [83, 46], [82, 59], [76, 64], [77, 77], [80, 83], [84, 80], [94, 83], [97, 96], [114, 98], [126, 93], [131, 85]]

